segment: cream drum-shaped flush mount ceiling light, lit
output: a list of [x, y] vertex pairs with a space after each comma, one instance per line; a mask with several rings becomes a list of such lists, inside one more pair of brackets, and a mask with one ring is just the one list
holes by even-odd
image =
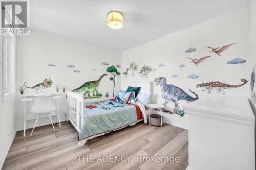
[[120, 29], [123, 27], [123, 15], [119, 11], [111, 11], [108, 13], [108, 26], [112, 29]]

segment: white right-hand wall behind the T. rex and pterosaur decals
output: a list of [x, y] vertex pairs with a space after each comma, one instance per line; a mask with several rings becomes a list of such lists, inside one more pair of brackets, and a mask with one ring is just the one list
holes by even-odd
[[[235, 19], [234, 19], [235, 18]], [[199, 25], [181, 30], [174, 34], [162, 37], [160, 39], [142, 44], [122, 52], [122, 72], [129, 68], [132, 61], [139, 65], [138, 71], [132, 77], [131, 71], [127, 78], [122, 75], [122, 81], [142, 81], [144, 79], [154, 81], [155, 78], [163, 76], [167, 80], [167, 84], [173, 84], [182, 88], [189, 95], [195, 97], [188, 89], [196, 92], [199, 98], [204, 98], [217, 94], [216, 91], [207, 93], [202, 89], [197, 89], [199, 83], [211, 81], [220, 81], [231, 85], [242, 84], [240, 79], [248, 80], [248, 83], [237, 89], [227, 89], [226, 96], [241, 96], [249, 98], [250, 96], [250, 75], [251, 62], [250, 57], [250, 7], [242, 8], [237, 11], [216, 17], [214, 19], [200, 23]], [[146, 28], [145, 28], [146, 29]], [[197, 67], [195, 64], [189, 63], [189, 58], [201, 58], [208, 55], [209, 49], [204, 46], [221, 47], [233, 42], [238, 42], [230, 46], [220, 56], [214, 55]], [[189, 47], [196, 48], [195, 52], [185, 53]], [[246, 60], [245, 63], [227, 64], [234, 58]], [[180, 67], [185, 64], [185, 67]], [[148, 78], [141, 78], [138, 75], [143, 65], [150, 65], [153, 72], [148, 74]], [[187, 78], [189, 75], [195, 74], [199, 78]], [[173, 78], [172, 75], [177, 75]], [[164, 103], [161, 98], [160, 86], [154, 83], [152, 103]], [[180, 101], [179, 107], [186, 102]], [[173, 103], [168, 103], [167, 108], [174, 109]], [[177, 114], [164, 114], [165, 122], [175, 126], [187, 128], [188, 116], [185, 114], [181, 117]]]

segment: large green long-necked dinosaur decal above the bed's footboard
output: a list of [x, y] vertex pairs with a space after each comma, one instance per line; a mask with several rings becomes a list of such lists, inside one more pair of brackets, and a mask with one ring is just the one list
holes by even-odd
[[[98, 92], [98, 88], [99, 88], [99, 83], [102, 80], [103, 77], [108, 76], [107, 74], [104, 74], [102, 76], [100, 76], [100, 78], [98, 80], [95, 81], [90, 81], [90, 82], [86, 82], [84, 83], [82, 86], [72, 90], [73, 92], [84, 92], [84, 99], [91, 99], [91, 98], [101, 98], [102, 94], [100, 94]], [[90, 92], [93, 92], [93, 96], [90, 96]], [[96, 92], [96, 94], [95, 94]], [[86, 97], [87, 94], [87, 97]]]

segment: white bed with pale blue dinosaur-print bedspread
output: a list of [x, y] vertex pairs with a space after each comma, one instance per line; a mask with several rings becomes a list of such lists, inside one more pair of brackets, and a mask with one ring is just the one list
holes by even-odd
[[[150, 82], [122, 83], [122, 89], [128, 86], [141, 87], [142, 93], [151, 91]], [[111, 131], [133, 126], [142, 120], [145, 124], [147, 122], [145, 105], [138, 101], [136, 104], [122, 104], [102, 99], [88, 102], [84, 100], [83, 94], [67, 91], [67, 105], [68, 120], [79, 133], [78, 145]]]

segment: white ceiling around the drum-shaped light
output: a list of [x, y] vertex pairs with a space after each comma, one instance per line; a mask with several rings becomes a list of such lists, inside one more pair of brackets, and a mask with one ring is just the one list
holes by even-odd
[[[33, 0], [32, 29], [123, 51], [248, 6], [250, 0]], [[110, 29], [108, 12], [123, 14], [123, 28]]]

